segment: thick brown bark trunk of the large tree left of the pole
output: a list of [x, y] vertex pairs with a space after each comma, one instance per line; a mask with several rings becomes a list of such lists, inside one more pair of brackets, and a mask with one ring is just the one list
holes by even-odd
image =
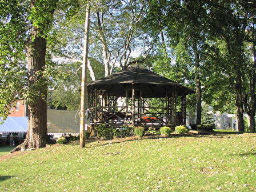
[[43, 77], [46, 56], [46, 39], [38, 36], [37, 29], [31, 31], [31, 42], [27, 46], [27, 65], [29, 70], [29, 89], [31, 90], [29, 122], [25, 141], [15, 150], [45, 147], [50, 142], [47, 135], [46, 97], [47, 80]]

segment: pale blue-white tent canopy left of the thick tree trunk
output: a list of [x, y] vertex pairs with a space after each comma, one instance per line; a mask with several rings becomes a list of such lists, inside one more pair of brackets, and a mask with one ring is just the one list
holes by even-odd
[[[2, 117], [0, 117], [2, 121]], [[27, 132], [27, 117], [7, 117], [0, 124], [0, 133], [26, 133]]]

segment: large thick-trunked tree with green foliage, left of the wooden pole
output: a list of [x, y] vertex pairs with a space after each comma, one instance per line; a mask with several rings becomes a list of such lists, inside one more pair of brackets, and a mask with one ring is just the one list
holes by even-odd
[[[47, 40], [50, 41], [47, 34], [57, 7], [57, 0], [6, 1], [1, 5], [1, 75], [4, 79], [2, 82], [9, 85], [0, 93], [1, 107], [5, 103], [10, 108], [18, 97], [26, 99], [29, 106], [26, 139], [15, 150], [44, 147], [50, 142], [46, 127], [46, 46]], [[23, 60], [17, 62], [18, 59]], [[6, 73], [3, 73], [5, 70]], [[7, 75], [17, 71], [17, 75], [7, 78]], [[27, 77], [21, 77], [25, 74]], [[20, 82], [15, 79], [17, 77], [21, 77]], [[12, 80], [15, 81], [11, 82]], [[6, 116], [6, 111], [1, 111], [1, 115]]]

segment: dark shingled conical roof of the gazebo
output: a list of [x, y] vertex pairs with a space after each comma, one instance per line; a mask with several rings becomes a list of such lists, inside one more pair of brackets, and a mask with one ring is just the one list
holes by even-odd
[[88, 89], [89, 91], [104, 90], [110, 95], [125, 96], [125, 90], [131, 90], [133, 85], [136, 90], [142, 91], [142, 97], [165, 97], [166, 90], [171, 93], [174, 89], [178, 95], [195, 93], [193, 90], [139, 65], [133, 65], [118, 73], [93, 81], [88, 85]]

